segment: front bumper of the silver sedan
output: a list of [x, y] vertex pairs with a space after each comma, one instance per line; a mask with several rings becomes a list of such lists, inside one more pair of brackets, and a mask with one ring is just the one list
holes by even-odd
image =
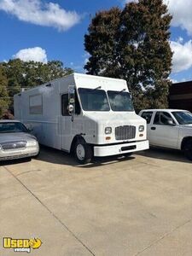
[[36, 156], [39, 153], [38, 145], [26, 148], [0, 150], [0, 160], [14, 160]]

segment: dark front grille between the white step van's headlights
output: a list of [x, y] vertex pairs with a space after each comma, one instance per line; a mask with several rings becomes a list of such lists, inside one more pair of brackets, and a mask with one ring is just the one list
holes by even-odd
[[115, 139], [130, 140], [136, 137], [136, 126], [124, 125], [115, 128]]

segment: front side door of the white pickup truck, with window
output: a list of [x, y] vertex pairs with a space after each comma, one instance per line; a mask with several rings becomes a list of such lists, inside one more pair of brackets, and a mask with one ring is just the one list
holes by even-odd
[[170, 113], [158, 111], [150, 125], [149, 143], [154, 146], [177, 148], [179, 129]]

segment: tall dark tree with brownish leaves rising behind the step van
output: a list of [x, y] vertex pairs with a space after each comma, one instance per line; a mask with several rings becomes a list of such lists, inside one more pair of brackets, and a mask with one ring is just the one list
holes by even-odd
[[[142, 108], [166, 108], [171, 84], [168, 77], [172, 67], [169, 44], [172, 16], [168, 14], [166, 5], [162, 0], [127, 3], [125, 9], [103, 28], [103, 13], [105, 17], [112, 11], [97, 13], [90, 24], [84, 41], [90, 60], [85, 68], [88, 73], [126, 79], [137, 111]], [[94, 26], [95, 20], [97, 26]], [[103, 32], [104, 29], [108, 31], [108, 39], [102, 42], [104, 35], [98, 31]], [[108, 47], [110, 41], [113, 41], [112, 47]], [[106, 55], [113, 60], [103, 58]], [[100, 61], [102, 65], [98, 65]], [[108, 63], [114, 65], [108, 67]]]

